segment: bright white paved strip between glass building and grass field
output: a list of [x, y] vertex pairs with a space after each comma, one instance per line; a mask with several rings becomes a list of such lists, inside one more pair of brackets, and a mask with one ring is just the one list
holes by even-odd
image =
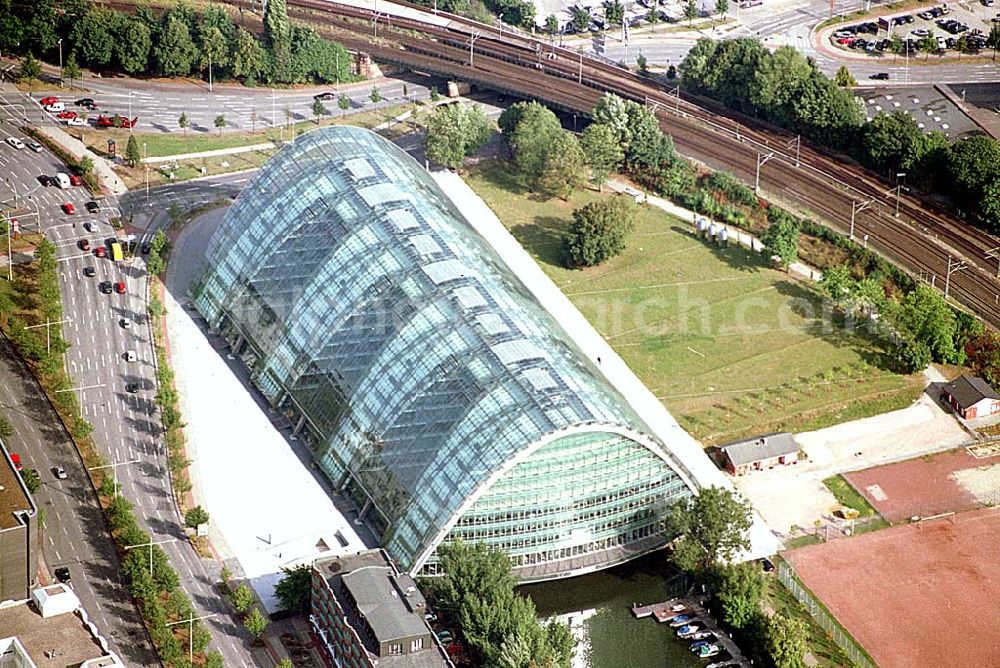
[[[542, 271], [517, 239], [507, 231], [493, 210], [457, 174], [445, 171], [434, 172], [432, 176], [454, 201], [469, 225], [489, 243], [538, 303], [555, 317], [565, 336], [590, 358], [597, 372], [626, 397], [632, 409], [652, 431], [652, 436], [663, 443], [691, 473], [697, 486], [733, 490], [732, 483], [712, 463], [701, 445], [684, 431], [660, 400]], [[461, 200], [455, 201], [454, 195], [459, 195]], [[598, 358], [601, 359], [600, 364], [596, 362]], [[781, 547], [780, 541], [767, 528], [756, 510], [753, 517], [754, 526], [750, 530], [752, 546], [750, 553], [745, 555], [746, 558], [774, 554]]]

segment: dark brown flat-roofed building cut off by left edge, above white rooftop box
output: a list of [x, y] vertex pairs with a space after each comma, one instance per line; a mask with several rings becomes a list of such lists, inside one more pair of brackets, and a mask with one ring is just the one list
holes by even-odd
[[31, 597], [37, 549], [38, 509], [0, 441], [0, 603]]

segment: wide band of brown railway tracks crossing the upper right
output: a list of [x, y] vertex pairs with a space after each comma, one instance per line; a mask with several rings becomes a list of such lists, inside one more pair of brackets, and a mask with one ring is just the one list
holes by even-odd
[[[248, 8], [243, 0], [231, 4]], [[589, 114], [605, 92], [646, 104], [679, 153], [754, 183], [770, 199], [850, 234], [926, 280], [993, 326], [1000, 326], [1000, 239], [932, 202], [900, 193], [850, 159], [794, 135], [741, 118], [710, 100], [682, 94], [617, 65], [530, 35], [402, 5], [406, 15], [327, 0], [290, 0], [289, 15], [319, 24], [348, 48], [415, 70], [454, 77]], [[383, 5], [385, 7], [385, 5]], [[378, 37], [375, 33], [378, 33]], [[762, 163], [762, 164], [761, 164]], [[759, 168], [758, 168], [758, 165]], [[794, 197], [790, 186], [794, 185]], [[853, 213], [853, 215], [852, 215]], [[853, 225], [852, 225], [853, 218]]]

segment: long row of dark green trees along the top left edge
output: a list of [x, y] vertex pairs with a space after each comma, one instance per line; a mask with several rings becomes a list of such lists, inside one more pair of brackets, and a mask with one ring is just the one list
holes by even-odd
[[[157, 16], [148, 7], [132, 14], [86, 2], [51, 0], [28, 5], [7, 3], [0, 11], [0, 45], [5, 52], [39, 53], [53, 60], [60, 39], [68, 51], [64, 74], [79, 76], [79, 66], [120, 70], [128, 74], [151, 72], [160, 76], [192, 74], [233, 78], [248, 85], [259, 82], [332, 83], [353, 81], [353, 59], [339, 44], [321, 38], [312, 28], [292, 26], [284, 0], [267, 3], [264, 39], [237, 27], [219, 6], [200, 13], [178, 3]], [[52, 17], [49, 29], [39, 32], [36, 17]]]

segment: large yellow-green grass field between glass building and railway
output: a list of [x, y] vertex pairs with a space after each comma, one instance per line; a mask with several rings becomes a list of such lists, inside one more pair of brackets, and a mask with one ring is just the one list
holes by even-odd
[[568, 270], [571, 213], [601, 195], [535, 198], [506, 165], [467, 177], [515, 237], [682, 426], [706, 444], [817, 429], [909, 405], [918, 378], [886, 370], [885, 351], [823, 317], [812, 285], [757, 253], [709, 246], [643, 208], [625, 252]]

